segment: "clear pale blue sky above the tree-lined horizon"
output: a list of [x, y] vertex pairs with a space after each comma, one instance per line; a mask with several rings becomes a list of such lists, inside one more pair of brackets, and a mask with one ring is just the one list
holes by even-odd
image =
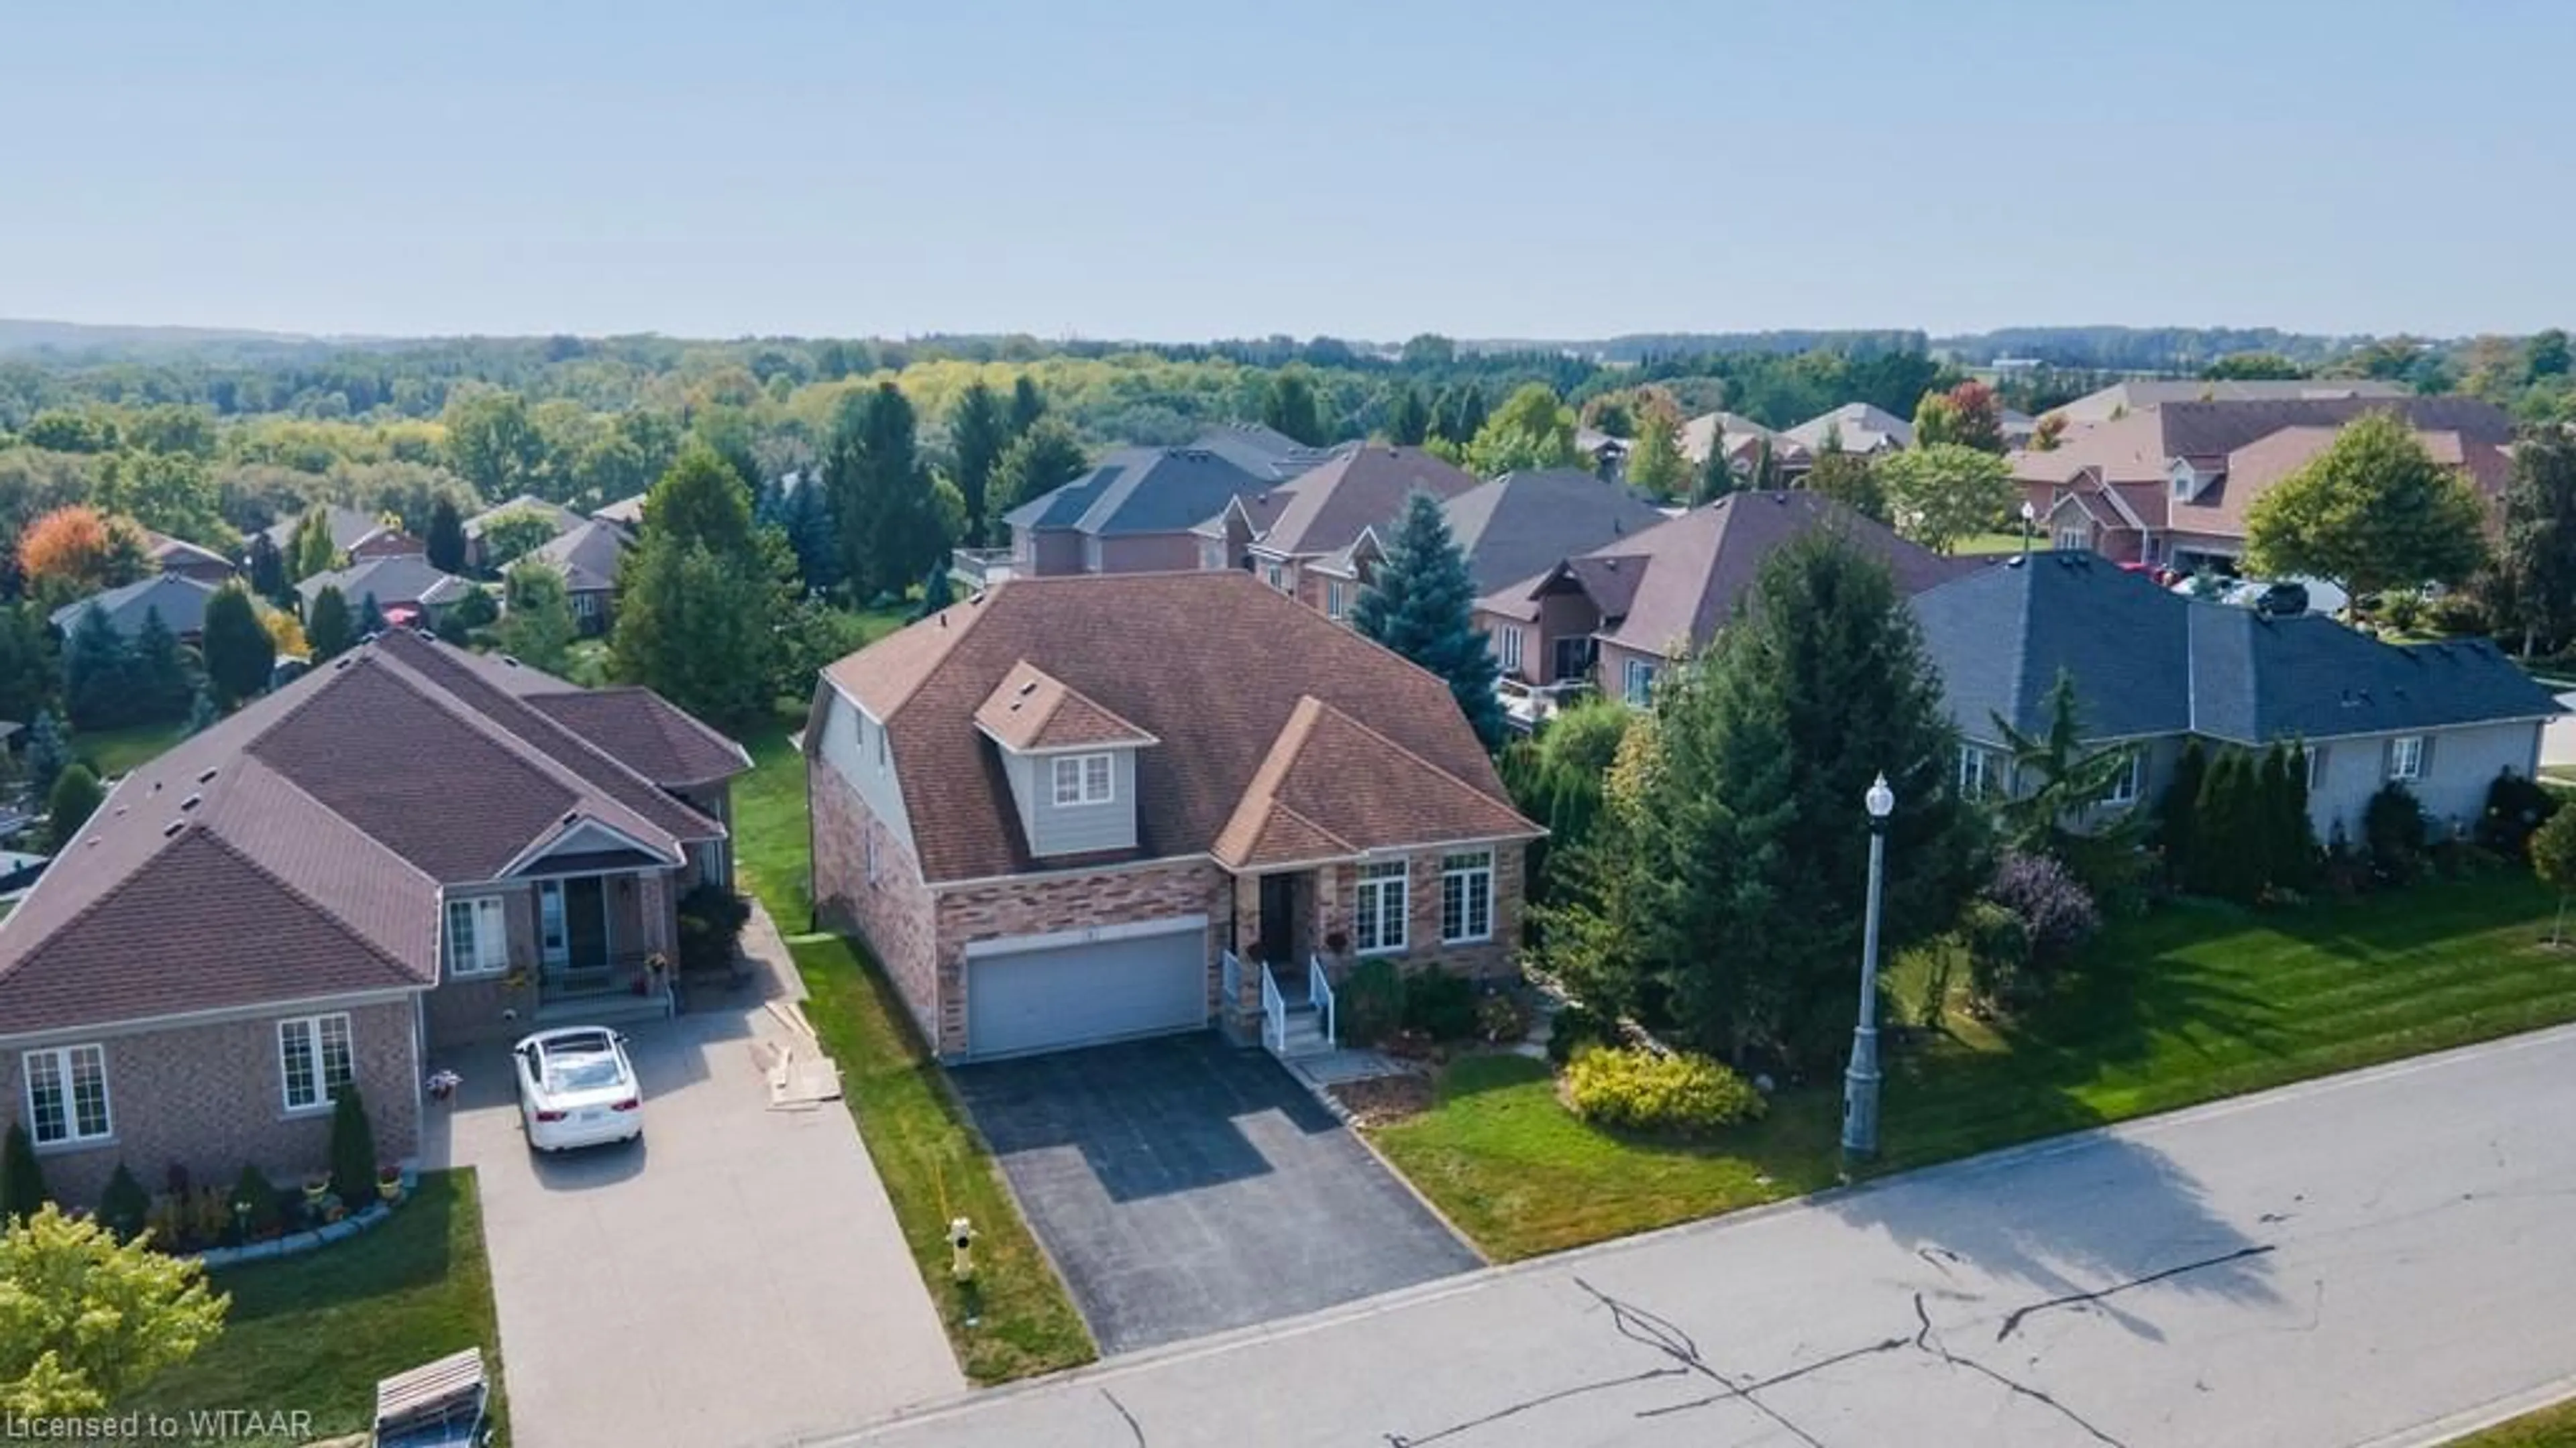
[[26, 0], [0, 317], [2527, 332], [2571, 59], [2571, 0]]

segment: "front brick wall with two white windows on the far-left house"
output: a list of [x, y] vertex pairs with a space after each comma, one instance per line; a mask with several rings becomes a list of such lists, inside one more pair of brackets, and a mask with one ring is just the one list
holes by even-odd
[[[278, 1020], [286, 1015], [330, 1010], [70, 1041], [106, 1046], [116, 1136], [44, 1149], [52, 1193], [67, 1206], [95, 1208], [116, 1162], [155, 1193], [173, 1162], [188, 1167], [191, 1180], [214, 1185], [229, 1185], [250, 1162], [281, 1188], [327, 1167], [330, 1110], [286, 1113], [278, 1080]], [[420, 1149], [412, 1002], [355, 1005], [345, 1015], [358, 1092], [376, 1126], [376, 1157], [412, 1157]], [[21, 1059], [18, 1049], [0, 1049], [0, 1121], [18, 1121], [26, 1110]]]

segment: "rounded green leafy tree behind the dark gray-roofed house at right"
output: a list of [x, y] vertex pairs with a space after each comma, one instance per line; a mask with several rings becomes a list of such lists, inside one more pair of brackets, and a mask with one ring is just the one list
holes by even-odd
[[2486, 505], [2396, 412], [2365, 412], [2246, 508], [2246, 569], [2334, 580], [2352, 598], [2460, 585], [2486, 562]]

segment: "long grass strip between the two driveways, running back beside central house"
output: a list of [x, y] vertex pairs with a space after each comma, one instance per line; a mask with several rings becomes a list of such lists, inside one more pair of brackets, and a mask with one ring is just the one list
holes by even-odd
[[[811, 917], [806, 876], [806, 776], [781, 714], [744, 737], [752, 773], [734, 781], [734, 863], [768, 904], [806, 982], [806, 1020], [840, 1062], [842, 1095], [876, 1159], [912, 1260], [930, 1286], [966, 1376], [999, 1384], [1095, 1358], [1056, 1268], [1020, 1221], [984, 1139], [948, 1092], [884, 969], [840, 935], [793, 935]], [[976, 1226], [979, 1293], [948, 1281], [948, 1219]], [[976, 1317], [969, 1327], [966, 1317]]]

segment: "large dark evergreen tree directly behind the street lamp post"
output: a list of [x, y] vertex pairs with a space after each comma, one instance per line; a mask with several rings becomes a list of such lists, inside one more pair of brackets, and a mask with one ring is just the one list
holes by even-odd
[[1883, 958], [1950, 930], [1986, 879], [1940, 675], [1886, 564], [1829, 531], [1772, 554], [1739, 618], [1674, 670], [1625, 861], [1651, 904], [1638, 995], [1669, 1000], [1703, 1049], [1821, 1069], [1857, 1010], [1870, 781], [1896, 794]]

